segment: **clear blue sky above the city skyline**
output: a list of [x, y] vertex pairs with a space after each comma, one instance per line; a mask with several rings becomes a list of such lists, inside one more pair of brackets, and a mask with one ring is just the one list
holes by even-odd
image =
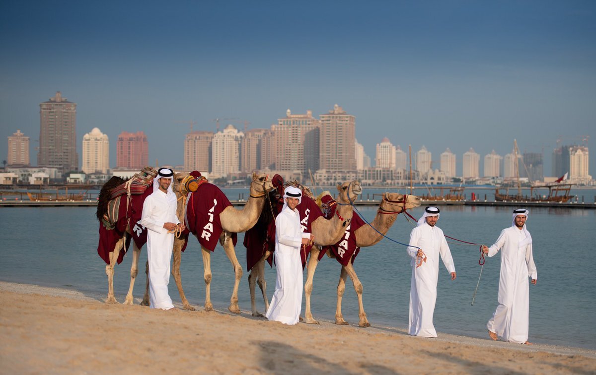
[[386, 136], [426, 145], [433, 167], [449, 147], [461, 172], [470, 147], [504, 155], [516, 138], [544, 149], [548, 176], [558, 138], [596, 142], [591, 1], [4, 1], [0, 46], [0, 138], [30, 136], [33, 164], [56, 91], [77, 103], [79, 149], [98, 127], [111, 165], [122, 130], [144, 130], [151, 162], [182, 164], [177, 121], [269, 127], [336, 103], [373, 160]]

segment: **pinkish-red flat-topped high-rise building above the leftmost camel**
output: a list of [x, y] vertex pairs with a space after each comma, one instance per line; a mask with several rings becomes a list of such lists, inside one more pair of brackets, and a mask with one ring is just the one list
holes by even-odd
[[149, 165], [149, 142], [144, 132], [122, 132], [116, 142], [116, 168], [142, 169]]

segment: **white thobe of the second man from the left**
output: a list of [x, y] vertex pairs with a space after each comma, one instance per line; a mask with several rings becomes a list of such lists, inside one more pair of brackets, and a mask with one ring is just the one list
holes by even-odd
[[302, 310], [302, 233], [298, 210], [285, 207], [275, 218], [275, 268], [277, 280], [271, 304], [265, 316], [284, 324], [296, 324]]

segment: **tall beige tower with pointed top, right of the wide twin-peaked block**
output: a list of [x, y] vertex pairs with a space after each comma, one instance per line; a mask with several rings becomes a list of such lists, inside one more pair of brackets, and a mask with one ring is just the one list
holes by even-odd
[[354, 145], [356, 117], [339, 105], [321, 116], [319, 168], [328, 171], [356, 171]]

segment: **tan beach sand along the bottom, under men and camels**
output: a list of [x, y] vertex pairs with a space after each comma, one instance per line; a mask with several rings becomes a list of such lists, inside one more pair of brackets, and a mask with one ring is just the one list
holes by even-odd
[[0, 282], [1, 373], [596, 373], [589, 349], [425, 339], [328, 321], [284, 326], [249, 312], [162, 311], [104, 298]]

